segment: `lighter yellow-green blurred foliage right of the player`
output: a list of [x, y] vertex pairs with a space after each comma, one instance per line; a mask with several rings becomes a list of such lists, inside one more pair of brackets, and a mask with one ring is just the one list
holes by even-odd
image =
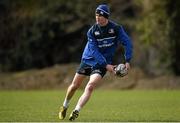
[[[167, 1], [139, 0], [138, 2], [138, 6], [142, 6], [142, 12], [136, 28], [148, 63], [146, 71], [153, 74], [164, 73], [165, 69], [170, 67], [172, 60]], [[158, 72], [158, 69], [162, 71]]]

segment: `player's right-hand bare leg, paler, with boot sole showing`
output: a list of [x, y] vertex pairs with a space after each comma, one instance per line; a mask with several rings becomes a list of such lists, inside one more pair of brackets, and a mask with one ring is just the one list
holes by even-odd
[[75, 110], [73, 110], [73, 112], [71, 113], [69, 120], [75, 120], [75, 118], [78, 117], [80, 109], [88, 102], [93, 92], [93, 89], [96, 87], [96, 85], [100, 82], [101, 79], [102, 76], [99, 73], [95, 73], [90, 76], [90, 80], [86, 85], [82, 96], [79, 98]]

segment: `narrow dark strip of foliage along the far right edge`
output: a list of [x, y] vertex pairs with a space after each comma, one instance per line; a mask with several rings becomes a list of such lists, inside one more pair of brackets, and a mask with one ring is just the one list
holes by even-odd
[[180, 75], [180, 1], [168, 1], [167, 13], [170, 19], [169, 38], [171, 40], [172, 67], [176, 75]]

